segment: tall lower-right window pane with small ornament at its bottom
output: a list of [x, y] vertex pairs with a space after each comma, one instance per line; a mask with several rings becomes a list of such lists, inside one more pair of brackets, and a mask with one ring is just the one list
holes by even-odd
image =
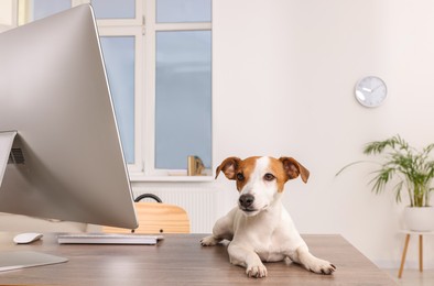
[[156, 33], [155, 167], [211, 164], [211, 32]]

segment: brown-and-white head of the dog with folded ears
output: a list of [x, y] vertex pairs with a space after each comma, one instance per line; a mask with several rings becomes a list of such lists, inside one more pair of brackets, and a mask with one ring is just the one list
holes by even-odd
[[279, 196], [284, 184], [301, 176], [307, 182], [308, 170], [292, 157], [238, 157], [226, 158], [216, 170], [237, 182], [240, 193], [238, 206], [247, 216], [256, 216], [267, 209]]

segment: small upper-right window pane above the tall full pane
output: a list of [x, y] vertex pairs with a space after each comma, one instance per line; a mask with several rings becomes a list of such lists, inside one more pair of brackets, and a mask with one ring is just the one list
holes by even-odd
[[156, 0], [156, 22], [210, 22], [211, 0]]

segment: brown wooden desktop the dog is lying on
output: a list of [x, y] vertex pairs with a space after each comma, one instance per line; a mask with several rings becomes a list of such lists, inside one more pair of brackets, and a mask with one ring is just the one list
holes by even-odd
[[337, 266], [333, 275], [311, 273], [296, 264], [265, 263], [268, 277], [248, 278], [229, 263], [225, 245], [203, 248], [202, 234], [166, 234], [158, 245], [65, 245], [55, 234], [14, 245], [14, 233], [0, 233], [1, 251], [37, 251], [67, 263], [1, 272], [0, 284], [36, 285], [395, 285], [339, 235], [303, 235], [311, 252]]

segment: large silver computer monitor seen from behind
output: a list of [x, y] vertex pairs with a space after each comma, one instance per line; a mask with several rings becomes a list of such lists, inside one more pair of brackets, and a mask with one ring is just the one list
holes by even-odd
[[88, 4], [0, 34], [0, 184], [1, 212], [138, 226]]

